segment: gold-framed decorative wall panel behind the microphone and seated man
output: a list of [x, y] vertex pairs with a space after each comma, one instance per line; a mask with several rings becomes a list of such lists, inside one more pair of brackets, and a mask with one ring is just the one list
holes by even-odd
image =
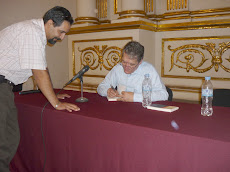
[[[96, 92], [98, 84], [121, 61], [123, 46], [132, 39], [132, 37], [122, 37], [72, 41], [72, 76], [85, 65], [90, 67], [83, 77], [84, 91]], [[79, 90], [79, 80], [68, 87]]]

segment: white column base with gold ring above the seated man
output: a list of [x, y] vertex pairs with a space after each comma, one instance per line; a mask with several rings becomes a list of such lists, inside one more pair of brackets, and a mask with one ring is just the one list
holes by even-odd
[[129, 17], [146, 18], [144, 0], [121, 0], [121, 12], [119, 19]]

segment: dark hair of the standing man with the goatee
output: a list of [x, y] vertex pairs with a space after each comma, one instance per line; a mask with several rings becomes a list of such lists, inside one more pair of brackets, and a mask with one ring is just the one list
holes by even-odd
[[70, 12], [66, 8], [60, 6], [53, 7], [45, 13], [43, 16], [44, 24], [50, 19], [53, 20], [54, 27], [61, 26], [64, 20], [68, 21], [70, 25], [73, 24], [73, 17]]

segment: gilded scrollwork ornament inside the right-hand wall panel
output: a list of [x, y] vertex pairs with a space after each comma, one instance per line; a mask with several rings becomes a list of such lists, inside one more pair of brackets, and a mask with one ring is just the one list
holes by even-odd
[[[219, 48], [216, 48], [215, 43], [206, 43], [206, 45], [200, 44], [188, 44], [172, 49], [171, 46], [168, 46], [168, 49], [173, 52], [171, 55], [171, 68], [174, 66], [178, 68], [186, 69], [187, 72], [193, 70], [198, 73], [204, 73], [215, 68], [215, 71], [219, 71], [219, 67], [224, 69], [226, 72], [230, 72], [230, 69], [223, 64], [222, 55], [230, 48], [230, 42], [223, 42], [219, 44]], [[211, 55], [211, 58], [206, 58], [202, 51], [208, 51]], [[175, 55], [175, 53], [177, 55]], [[198, 56], [196, 55], [198, 54]], [[196, 59], [198, 59], [197, 65], [195, 65]], [[211, 61], [211, 65], [208, 67], [203, 67], [206, 61]], [[230, 58], [226, 58], [230, 62]]]

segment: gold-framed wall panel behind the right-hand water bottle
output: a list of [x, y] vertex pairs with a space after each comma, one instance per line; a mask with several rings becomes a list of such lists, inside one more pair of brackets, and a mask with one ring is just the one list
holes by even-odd
[[230, 36], [162, 40], [162, 77], [230, 80]]

